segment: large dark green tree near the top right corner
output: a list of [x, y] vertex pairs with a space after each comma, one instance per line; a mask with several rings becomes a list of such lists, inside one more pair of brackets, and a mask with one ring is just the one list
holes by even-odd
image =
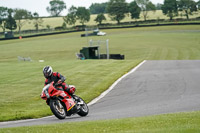
[[193, 0], [179, 0], [178, 1], [179, 11], [182, 11], [187, 19], [189, 15], [192, 15], [194, 11], [197, 11], [196, 2]]

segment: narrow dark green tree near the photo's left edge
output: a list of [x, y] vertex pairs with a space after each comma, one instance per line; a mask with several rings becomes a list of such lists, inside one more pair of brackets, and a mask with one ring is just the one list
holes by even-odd
[[5, 24], [6, 29], [11, 30], [11, 32], [17, 29], [17, 24], [16, 24], [15, 19], [12, 17], [12, 13], [13, 13], [13, 10], [9, 9], [8, 10], [9, 15], [8, 15], [8, 18], [6, 19], [6, 24]]

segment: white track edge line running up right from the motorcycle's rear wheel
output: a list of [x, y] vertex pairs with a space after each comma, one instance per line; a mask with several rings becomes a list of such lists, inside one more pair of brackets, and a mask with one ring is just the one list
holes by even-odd
[[123, 75], [121, 78], [119, 78], [118, 80], [116, 80], [106, 91], [104, 91], [103, 93], [101, 93], [100, 96], [98, 96], [97, 98], [93, 99], [91, 102], [89, 102], [87, 105], [91, 106], [93, 104], [95, 104], [98, 100], [100, 100], [101, 98], [103, 98], [105, 95], [107, 95], [123, 78], [125, 78], [126, 76], [128, 76], [129, 74], [135, 72], [141, 65], [143, 65], [146, 62], [146, 60], [142, 61], [140, 64], [138, 64], [136, 67], [134, 67], [131, 71], [129, 71], [128, 73], [126, 73], [125, 75]]

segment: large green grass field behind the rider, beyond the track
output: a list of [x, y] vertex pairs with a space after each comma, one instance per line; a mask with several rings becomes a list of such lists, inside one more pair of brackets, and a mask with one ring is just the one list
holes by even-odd
[[[89, 102], [142, 60], [200, 59], [199, 31], [199, 26], [166, 26], [105, 30], [107, 36], [88, 37], [109, 39], [110, 53], [125, 55], [121, 61], [77, 60], [75, 53], [88, 45], [81, 32], [1, 41], [0, 121], [51, 115], [39, 97], [45, 65], [66, 76]], [[33, 62], [18, 62], [17, 56]]]

